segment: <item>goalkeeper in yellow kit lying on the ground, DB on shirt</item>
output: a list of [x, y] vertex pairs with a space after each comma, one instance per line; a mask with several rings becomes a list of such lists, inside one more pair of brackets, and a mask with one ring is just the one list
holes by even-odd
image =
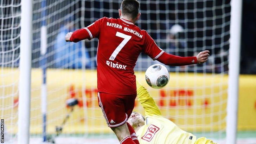
[[137, 112], [133, 112], [128, 119], [136, 131], [140, 144], [215, 144], [205, 137], [196, 136], [181, 130], [172, 121], [161, 116], [158, 106], [148, 91], [136, 81], [137, 97], [143, 106], [146, 119]]

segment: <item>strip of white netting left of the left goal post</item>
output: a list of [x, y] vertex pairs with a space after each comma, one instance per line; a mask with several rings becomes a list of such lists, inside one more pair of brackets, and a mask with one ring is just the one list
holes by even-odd
[[[5, 140], [17, 137], [20, 1], [0, 2], [0, 117]], [[13, 134], [13, 136], [11, 136]]]

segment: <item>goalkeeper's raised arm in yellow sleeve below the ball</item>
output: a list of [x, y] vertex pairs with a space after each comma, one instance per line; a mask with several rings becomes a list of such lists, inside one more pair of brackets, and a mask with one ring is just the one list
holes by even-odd
[[137, 85], [137, 97], [141, 106], [145, 110], [145, 114], [149, 116], [158, 115], [161, 116], [161, 112], [158, 106], [155, 104], [154, 99], [149, 95], [148, 91], [138, 81]]

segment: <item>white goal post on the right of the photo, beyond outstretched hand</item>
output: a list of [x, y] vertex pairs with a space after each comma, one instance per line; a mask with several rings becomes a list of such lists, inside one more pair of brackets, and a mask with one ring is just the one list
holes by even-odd
[[242, 6], [242, 0], [231, 0], [229, 87], [226, 122], [226, 143], [230, 144], [236, 144], [237, 133]]

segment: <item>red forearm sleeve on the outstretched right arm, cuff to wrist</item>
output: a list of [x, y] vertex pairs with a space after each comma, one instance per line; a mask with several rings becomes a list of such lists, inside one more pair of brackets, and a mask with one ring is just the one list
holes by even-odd
[[168, 54], [166, 52], [161, 54], [160, 57], [158, 57], [156, 60], [169, 66], [197, 64], [197, 57], [179, 57], [176, 55]]

